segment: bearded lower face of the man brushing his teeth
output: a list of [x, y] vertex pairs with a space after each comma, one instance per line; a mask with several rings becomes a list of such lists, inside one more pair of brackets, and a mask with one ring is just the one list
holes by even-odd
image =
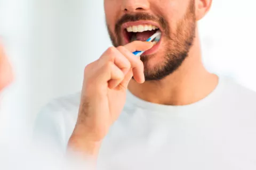
[[158, 29], [159, 42], [141, 56], [147, 80], [173, 73], [195, 37], [195, 0], [105, 0], [106, 22], [114, 46], [146, 41]]

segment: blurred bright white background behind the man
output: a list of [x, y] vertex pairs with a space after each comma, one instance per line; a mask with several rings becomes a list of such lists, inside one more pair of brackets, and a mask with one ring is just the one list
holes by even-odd
[[[199, 31], [207, 69], [256, 91], [255, 5], [213, 0]], [[31, 128], [51, 99], [79, 91], [85, 65], [111, 46], [102, 0], [0, 0], [0, 36], [16, 74], [1, 120], [14, 131]]]

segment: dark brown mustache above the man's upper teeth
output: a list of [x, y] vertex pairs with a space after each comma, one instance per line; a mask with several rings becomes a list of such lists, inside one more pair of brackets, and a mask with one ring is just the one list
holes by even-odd
[[134, 22], [134, 21], [140, 21], [140, 20], [150, 20], [157, 22], [159, 25], [161, 25], [163, 31], [165, 31], [165, 34], [168, 35], [169, 33], [169, 25], [168, 22], [162, 17], [162, 16], [154, 16], [150, 15], [148, 13], [137, 13], [137, 14], [124, 14], [121, 19], [119, 19], [116, 22], [115, 25], [115, 34], [118, 36], [118, 34], [122, 31], [122, 24], [126, 22]]

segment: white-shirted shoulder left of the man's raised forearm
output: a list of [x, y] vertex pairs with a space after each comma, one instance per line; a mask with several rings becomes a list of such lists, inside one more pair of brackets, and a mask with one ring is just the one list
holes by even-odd
[[49, 139], [54, 145], [65, 149], [76, 124], [79, 101], [80, 94], [77, 93], [54, 99], [45, 105], [36, 116], [34, 138]]

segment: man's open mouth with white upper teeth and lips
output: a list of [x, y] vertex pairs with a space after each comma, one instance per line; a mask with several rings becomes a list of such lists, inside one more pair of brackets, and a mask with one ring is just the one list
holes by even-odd
[[[146, 41], [149, 37], [153, 36], [159, 28], [156, 25], [149, 24], [149, 23], [126, 23], [123, 25], [123, 33], [124, 33], [124, 40], [125, 44], [131, 43], [132, 41]], [[160, 30], [161, 31], [161, 30]], [[159, 43], [161, 38], [154, 39], [152, 42], [154, 43], [154, 47], [149, 49], [144, 53], [144, 55], [156, 52], [157, 48], [159, 47]]]

